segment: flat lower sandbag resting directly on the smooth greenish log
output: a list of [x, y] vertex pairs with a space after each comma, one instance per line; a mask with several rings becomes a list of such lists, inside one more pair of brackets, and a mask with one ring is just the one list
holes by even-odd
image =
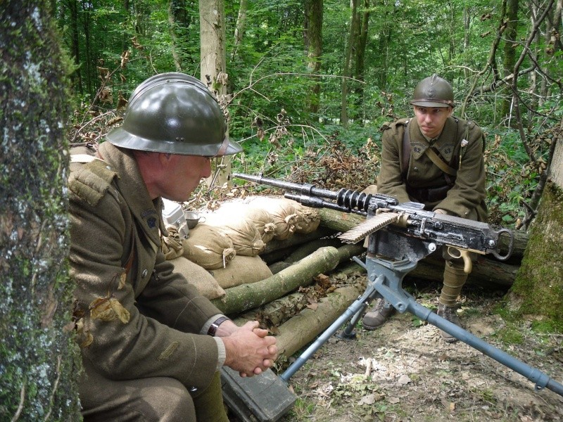
[[272, 276], [272, 271], [258, 256], [236, 255], [227, 267], [213, 269], [210, 274], [222, 288], [231, 288], [244, 283], [255, 283]]

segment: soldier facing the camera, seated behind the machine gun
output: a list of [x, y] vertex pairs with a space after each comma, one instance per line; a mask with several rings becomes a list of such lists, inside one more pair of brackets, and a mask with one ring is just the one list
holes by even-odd
[[[417, 84], [410, 103], [415, 118], [382, 128], [381, 171], [377, 186], [367, 191], [395, 196], [401, 203], [423, 203], [425, 210], [486, 222], [481, 128], [453, 115], [452, 86], [436, 74]], [[457, 298], [468, 274], [462, 258], [442, 253], [446, 262], [437, 313], [460, 325]], [[374, 330], [393, 312], [391, 304], [381, 299], [365, 314], [363, 326]], [[457, 340], [443, 331], [441, 336], [447, 342]]]

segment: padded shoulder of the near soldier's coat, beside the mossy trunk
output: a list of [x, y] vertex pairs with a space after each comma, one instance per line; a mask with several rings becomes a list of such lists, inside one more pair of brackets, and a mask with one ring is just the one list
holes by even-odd
[[89, 151], [71, 151], [68, 188], [80, 200], [91, 206], [99, 203], [110, 188], [117, 172]]

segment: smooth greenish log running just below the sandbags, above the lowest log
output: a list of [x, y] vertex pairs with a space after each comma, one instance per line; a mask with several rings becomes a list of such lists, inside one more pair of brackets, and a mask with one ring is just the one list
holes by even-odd
[[315, 276], [326, 273], [339, 264], [343, 252], [332, 246], [320, 248], [291, 267], [265, 280], [241, 284], [225, 290], [222, 298], [211, 300], [226, 315], [239, 314], [272, 302], [300, 286], [309, 286]]

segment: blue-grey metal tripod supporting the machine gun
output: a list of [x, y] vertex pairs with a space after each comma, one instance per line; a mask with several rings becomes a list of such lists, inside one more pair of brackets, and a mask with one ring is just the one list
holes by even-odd
[[417, 316], [421, 321], [428, 321], [429, 324], [440, 328], [446, 333], [453, 335], [458, 340], [466, 343], [467, 345], [473, 347], [479, 352], [486, 354], [488, 357], [495, 359], [500, 364], [507, 366], [513, 371], [519, 373], [520, 375], [529, 379], [535, 383], [535, 389], [537, 391], [543, 388], [548, 388], [558, 395], [563, 396], [563, 385], [552, 380], [545, 373], [539, 371], [538, 369], [532, 368], [524, 362], [515, 359], [502, 350], [486, 343], [486, 341], [481, 340], [472, 333], [465, 331], [463, 328], [453, 324], [452, 322], [443, 319], [438, 316], [430, 309], [417, 303], [415, 298], [409, 293], [403, 290], [403, 279], [404, 277], [415, 269], [418, 260], [404, 259], [400, 261], [389, 261], [380, 259], [377, 257], [367, 257], [366, 263], [364, 264], [357, 257], [354, 260], [358, 262], [362, 267], [367, 269], [368, 284], [365, 292], [355, 300], [346, 311], [339, 316], [336, 321], [334, 321], [327, 330], [325, 330], [315, 342], [313, 342], [302, 354], [296, 359], [293, 364], [291, 364], [284, 373], [281, 374], [279, 378], [283, 381], [289, 381], [289, 378], [293, 376], [298, 369], [305, 364], [305, 362], [310, 359], [312, 354], [320, 349], [324, 343], [326, 343], [329, 338], [331, 338], [336, 331], [348, 322], [348, 325], [343, 330], [339, 337], [341, 338], [354, 338], [354, 327], [362, 316], [365, 309], [369, 306], [370, 302], [374, 298], [384, 298], [397, 309], [398, 312], [410, 312], [411, 314]]

